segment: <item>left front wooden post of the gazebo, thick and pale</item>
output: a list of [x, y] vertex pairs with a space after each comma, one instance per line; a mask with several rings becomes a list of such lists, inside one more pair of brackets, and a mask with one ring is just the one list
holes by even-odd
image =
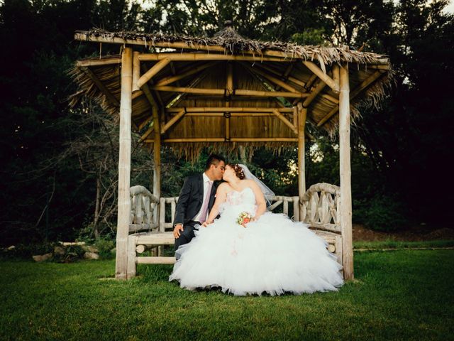
[[133, 49], [121, 55], [120, 152], [118, 158], [118, 220], [116, 229], [115, 278], [126, 279], [128, 269], [128, 232], [131, 214], [129, 197], [131, 174], [131, 111]]

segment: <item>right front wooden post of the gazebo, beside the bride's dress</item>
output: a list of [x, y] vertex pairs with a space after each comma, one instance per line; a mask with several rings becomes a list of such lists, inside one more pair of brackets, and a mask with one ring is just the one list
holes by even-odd
[[350, 169], [350, 85], [348, 63], [340, 70], [339, 94], [339, 158], [341, 169], [341, 231], [343, 274], [345, 280], [353, 279], [352, 192]]

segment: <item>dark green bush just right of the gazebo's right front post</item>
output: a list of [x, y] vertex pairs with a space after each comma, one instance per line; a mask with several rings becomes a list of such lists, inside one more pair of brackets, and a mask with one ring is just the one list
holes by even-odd
[[353, 200], [353, 221], [377, 231], [395, 231], [406, 225], [404, 211], [402, 202], [389, 195]]

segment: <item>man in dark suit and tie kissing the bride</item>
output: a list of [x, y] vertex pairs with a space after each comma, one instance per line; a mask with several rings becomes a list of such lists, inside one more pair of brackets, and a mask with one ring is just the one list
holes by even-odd
[[202, 174], [192, 175], [184, 180], [173, 221], [175, 251], [194, 238], [194, 225], [202, 224], [208, 218], [214, 204], [214, 195], [222, 180], [226, 161], [222, 156], [211, 154]]

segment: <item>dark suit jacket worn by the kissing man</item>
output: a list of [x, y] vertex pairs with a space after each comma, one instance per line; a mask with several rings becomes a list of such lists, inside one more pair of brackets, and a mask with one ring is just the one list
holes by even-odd
[[[211, 187], [210, 200], [208, 203], [208, 211], [214, 205], [214, 195], [220, 181], [215, 181]], [[175, 207], [175, 224], [187, 224], [201, 209], [201, 204], [204, 202], [204, 178], [202, 174], [188, 176], [184, 179], [182, 190], [179, 193], [177, 207]]]

